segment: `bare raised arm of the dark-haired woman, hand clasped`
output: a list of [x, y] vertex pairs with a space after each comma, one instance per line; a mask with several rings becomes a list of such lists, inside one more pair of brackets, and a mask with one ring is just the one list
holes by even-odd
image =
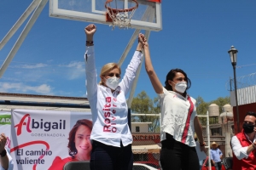
[[148, 77], [150, 79], [150, 82], [152, 83], [152, 86], [154, 88], [154, 91], [156, 94], [163, 94], [163, 86], [157, 77], [156, 73], [154, 72], [154, 67], [152, 65], [151, 59], [150, 59], [150, 53], [149, 53], [149, 46], [147, 39], [143, 36], [143, 34], [139, 35], [139, 41], [143, 41], [143, 49], [145, 54], [145, 69], [148, 73]]

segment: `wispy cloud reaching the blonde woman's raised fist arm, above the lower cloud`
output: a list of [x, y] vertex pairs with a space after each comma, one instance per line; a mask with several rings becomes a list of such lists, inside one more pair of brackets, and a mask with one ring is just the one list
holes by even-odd
[[[11, 77], [5, 76], [5, 82], [38, 82], [41, 84], [56, 80], [77, 80], [84, 76], [84, 62], [70, 61], [68, 64], [49, 65], [45, 63], [12, 65]], [[55, 78], [56, 77], [56, 78]]]

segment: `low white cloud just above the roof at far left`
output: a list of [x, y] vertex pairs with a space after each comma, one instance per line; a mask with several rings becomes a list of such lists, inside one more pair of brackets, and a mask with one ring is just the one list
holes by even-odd
[[42, 84], [39, 86], [29, 86], [22, 82], [0, 82], [0, 92], [3, 93], [36, 93], [36, 94], [47, 94], [53, 95], [53, 88], [47, 84]]

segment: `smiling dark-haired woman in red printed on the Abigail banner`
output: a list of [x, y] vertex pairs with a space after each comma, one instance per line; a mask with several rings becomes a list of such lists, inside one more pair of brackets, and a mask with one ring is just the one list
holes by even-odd
[[90, 151], [92, 149], [90, 143], [90, 133], [92, 122], [87, 119], [81, 119], [76, 122], [69, 132], [67, 148], [67, 158], [61, 159], [56, 156], [49, 170], [62, 170], [68, 161], [88, 161], [90, 160]]

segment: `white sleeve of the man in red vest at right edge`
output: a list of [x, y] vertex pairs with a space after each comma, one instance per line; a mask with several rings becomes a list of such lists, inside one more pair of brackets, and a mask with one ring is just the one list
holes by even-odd
[[236, 136], [233, 136], [231, 139], [231, 145], [232, 145], [232, 150], [237, 157], [237, 159], [241, 160], [243, 158], [247, 158], [247, 149], [248, 146], [242, 147], [240, 144], [240, 141], [237, 139]]

